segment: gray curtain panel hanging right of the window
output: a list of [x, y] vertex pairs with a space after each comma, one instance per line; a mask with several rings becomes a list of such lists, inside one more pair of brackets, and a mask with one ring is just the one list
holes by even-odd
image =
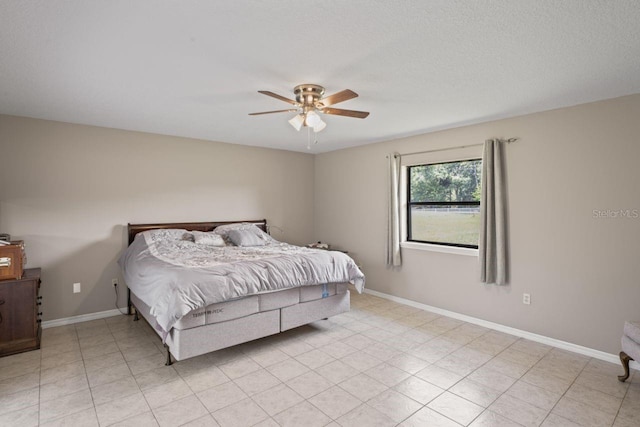
[[489, 139], [482, 156], [480, 281], [504, 285], [507, 277], [507, 191], [504, 141]]

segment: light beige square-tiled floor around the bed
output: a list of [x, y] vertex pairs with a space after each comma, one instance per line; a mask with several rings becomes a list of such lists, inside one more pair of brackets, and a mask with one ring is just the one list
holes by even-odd
[[164, 366], [144, 321], [0, 358], [1, 426], [640, 426], [640, 374], [352, 293], [326, 321]]

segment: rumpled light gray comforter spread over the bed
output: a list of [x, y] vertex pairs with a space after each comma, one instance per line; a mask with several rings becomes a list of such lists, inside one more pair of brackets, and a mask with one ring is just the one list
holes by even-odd
[[182, 316], [262, 292], [323, 283], [364, 288], [346, 254], [270, 239], [264, 246], [197, 244], [186, 230], [140, 233], [118, 260], [131, 291], [151, 309], [163, 338]]

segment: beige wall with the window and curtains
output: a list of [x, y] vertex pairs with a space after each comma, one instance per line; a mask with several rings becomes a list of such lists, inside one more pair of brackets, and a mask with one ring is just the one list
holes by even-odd
[[[348, 249], [367, 287], [608, 353], [640, 318], [640, 95], [334, 151], [315, 159], [315, 238]], [[385, 268], [387, 153], [519, 137], [506, 148], [511, 284], [476, 257], [403, 249]], [[531, 294], [531, 305], [522, 294]]]

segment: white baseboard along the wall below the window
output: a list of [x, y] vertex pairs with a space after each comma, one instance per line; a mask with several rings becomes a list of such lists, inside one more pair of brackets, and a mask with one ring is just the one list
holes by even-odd
[[[427, 304], [411, 301], [405, 298], [396, 297], [393, 295], [385, 294], [371, 289], [365, 289], [366, 294], [371, 294], [380, 298], [384, 298], [390, 301], [394, 301], [400, 304], [408, 305], [410, 307], [419, 308], [421, 310], [430, 311], [432, 313], [440, 314], [442, 316], [452, 317], [454, 319], [462, 320], [474, 325], [483, 326], [485, 328], [493, 329], [506, 334], [515, 335], [517, 337], [526, 338], [531, 341], [539, 342], [542, 344], [550, 345], [552, 347], [561, 348], [563, 350], [572, 351], [574, 353], [582, 354], [584, 356], [593, 357], [594, 359], [604, 360], [605, 362], [620, 363], [620, 357], [617, 354], [605, 353], [604, 351], [595, 350], [589, 347], [583, 347], [581, 345], [573, 344], [566, 341], [561, 341], [555, 338], [546, 337], [544, 335], [534, 334], [532, 332], [523, 331], [521, 329], [512, 328], [510, 326], [501, 325], [499, 323], [489, 322], [487, 320], [478, 319], [476, 317], [467, 316], [466, 314], [456, 313], [454, 311], [444, 310], [442, 308], [433, 307]], [[632, 361], [629, 365], [631, 368], [640, 370], [640, 363]]]

